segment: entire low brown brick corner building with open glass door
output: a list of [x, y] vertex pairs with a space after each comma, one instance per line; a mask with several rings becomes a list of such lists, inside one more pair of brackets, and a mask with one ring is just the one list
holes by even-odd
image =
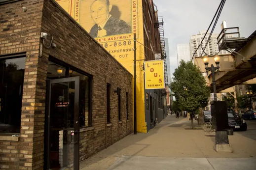
[[0, 1], [0, 80], [0, 169], [77, 167], [133, 131], [132, 75], [55, 0]]

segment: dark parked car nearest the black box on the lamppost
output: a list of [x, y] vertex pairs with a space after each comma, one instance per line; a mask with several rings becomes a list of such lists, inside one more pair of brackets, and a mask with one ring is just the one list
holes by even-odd
[[228, 112], [228, 125], [231, 129], [234, 130], [247, 130], [247, 124], [244, 119], [241, 118], [241, 116], [235, 112]]

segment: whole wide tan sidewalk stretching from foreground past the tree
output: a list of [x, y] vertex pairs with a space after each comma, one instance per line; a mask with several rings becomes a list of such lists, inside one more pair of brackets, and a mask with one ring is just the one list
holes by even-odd
[[255, 169], [255, 140], [234, 133], [229, 136], [233, 153], [218, 153], [215, 133], [184, 129], [190, 125], [186, 118], [168, 115], [149, 133], [129, 135], [83, 161], [80, 170]]

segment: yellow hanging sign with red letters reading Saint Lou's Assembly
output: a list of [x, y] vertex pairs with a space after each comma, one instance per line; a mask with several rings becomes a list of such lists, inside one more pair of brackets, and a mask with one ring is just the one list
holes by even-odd
[[165, 88], [164, 60], [145, 61], [145, 88]]

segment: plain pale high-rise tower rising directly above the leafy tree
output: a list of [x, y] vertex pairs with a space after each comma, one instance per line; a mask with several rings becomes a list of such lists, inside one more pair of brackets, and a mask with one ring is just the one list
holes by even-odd
[[191, 60], [189, 44], [177, 44], [177, 59], [178, 65], [180, 65], [181, 60], [184, 60], [185, 62]]

